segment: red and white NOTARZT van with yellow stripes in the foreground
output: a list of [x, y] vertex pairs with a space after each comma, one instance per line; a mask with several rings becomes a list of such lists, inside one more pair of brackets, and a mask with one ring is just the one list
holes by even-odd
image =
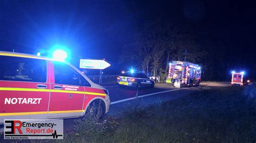
[[4, 119], [63, 119], [85, 113], [102, 117], [109, 111], [109, 92], [68, 62], [0, 52], [0, 66], [0, 124]]

